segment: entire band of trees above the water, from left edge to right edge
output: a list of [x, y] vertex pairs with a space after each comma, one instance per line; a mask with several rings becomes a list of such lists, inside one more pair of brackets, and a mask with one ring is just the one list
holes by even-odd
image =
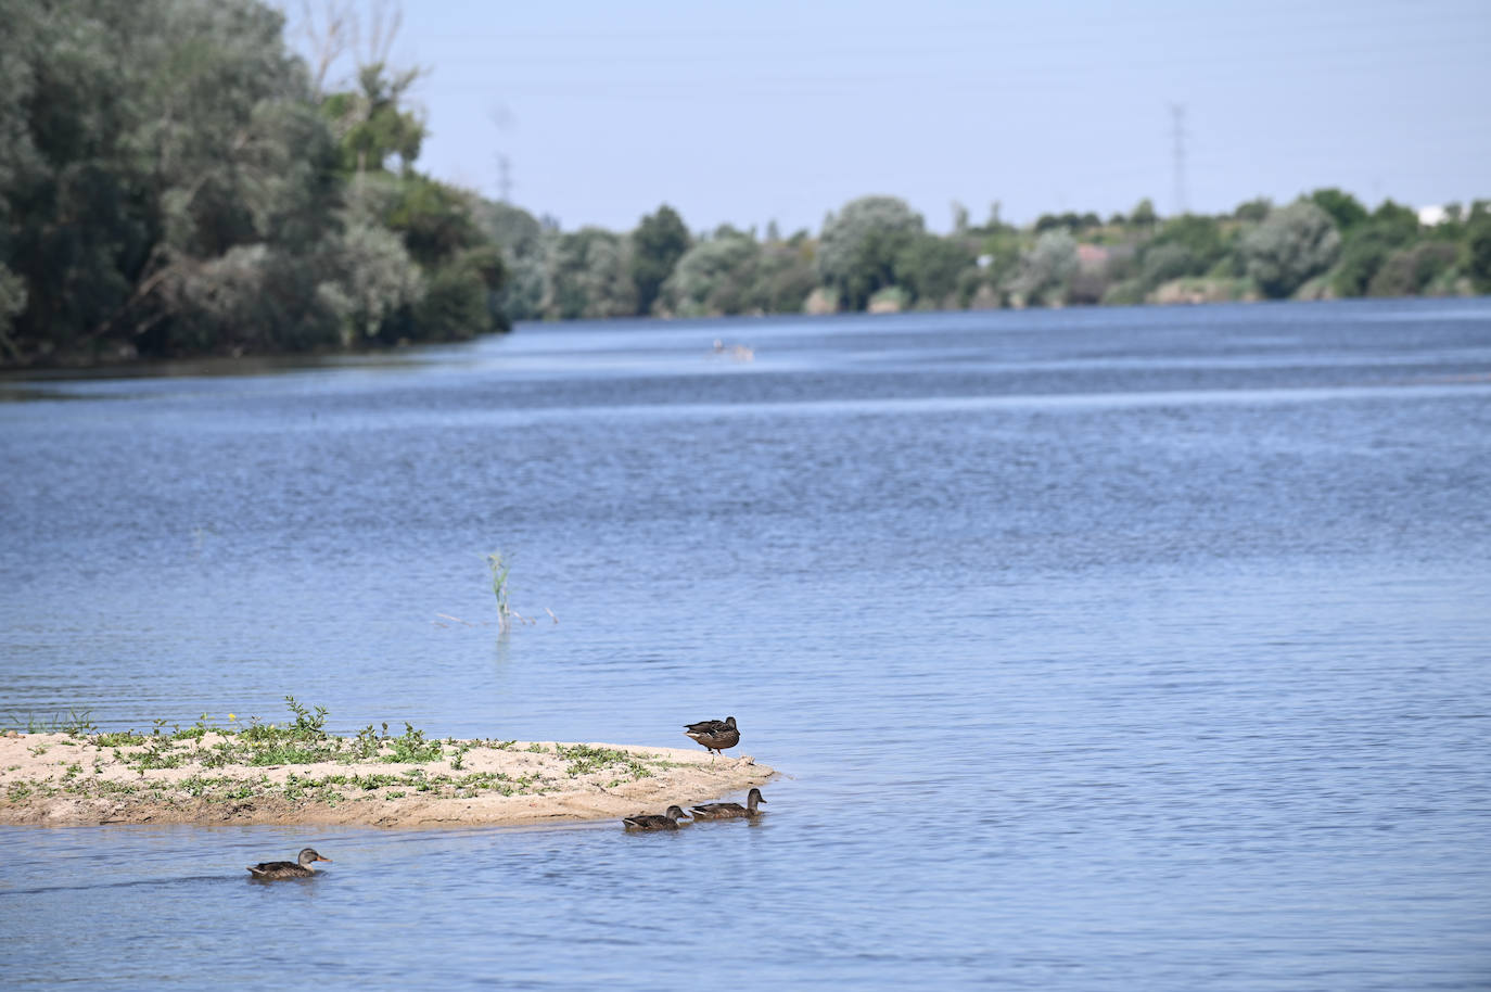
[[[420, 70], [328, 82], [265, 0], [0, 0], [0, 367], [444, 342], [510, 321], [1491, 292], [1491, 201], [1324, 188], [1220, 215], [951, 231], [893, 195], [817, 233], [561, 230], [416, 170]], [[461, 127], [461, 122], [443, 122]]]

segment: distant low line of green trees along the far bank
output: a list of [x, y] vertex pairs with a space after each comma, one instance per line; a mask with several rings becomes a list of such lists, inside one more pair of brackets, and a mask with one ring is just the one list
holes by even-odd
[[[668, 206], [631, 234], [562, 233], [499, 210], [491, 231], [514, 273], [504, 297], [514, 319], [1491, 292], [1487, 200], [1451, 204], [1434, 224], [1391, 200], [1369, 210], [1340, 189], [1220, 216], [1161, 218], [1144, 200], [1129, 215], [1042, 215], [1027, 227], [1002, 222], [997, 206], [971, 225], [956, 207], [954, 230], [939, 236], [904, 200], [862, 197], [817, 236], [787, 239], [729, 225], [690, 236]], [[595, 260], [584, 285], [581, 257]]]

